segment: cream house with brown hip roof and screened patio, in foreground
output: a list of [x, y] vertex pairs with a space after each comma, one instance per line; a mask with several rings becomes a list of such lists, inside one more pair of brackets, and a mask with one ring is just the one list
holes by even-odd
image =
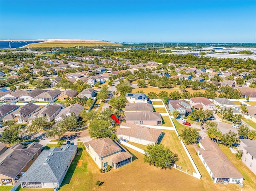
[[99, 168], [106, 169], [107, 165], [112, 165], [116, 169], [132, 162], [132, 155], [109, 137], [92, 140], [84, 144], [86, 151]]

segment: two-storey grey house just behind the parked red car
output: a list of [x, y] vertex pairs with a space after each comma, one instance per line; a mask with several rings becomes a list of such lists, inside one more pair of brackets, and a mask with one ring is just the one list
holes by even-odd
[[185, 100], [169, 100], [167, 107], [171, 113], [174, 112], [174, 110], [178, 111], [181, 118], [188, 116], [192, 112], [189, 102]]

